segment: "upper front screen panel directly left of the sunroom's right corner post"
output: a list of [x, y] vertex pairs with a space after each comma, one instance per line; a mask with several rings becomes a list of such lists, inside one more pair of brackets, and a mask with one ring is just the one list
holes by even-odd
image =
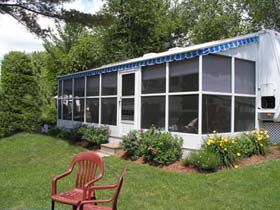
[[169, 91], [198, 90], [198, 57], [169, 64]]

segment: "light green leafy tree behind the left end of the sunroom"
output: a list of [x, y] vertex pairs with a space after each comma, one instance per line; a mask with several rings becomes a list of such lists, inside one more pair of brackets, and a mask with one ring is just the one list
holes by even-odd
[[57, 35], [45, 40], [45, 66], [51, 92], [56, 94], [57, 76], [91, 69], [104, 64], [102, 35], [79, 24], [57, 26]]

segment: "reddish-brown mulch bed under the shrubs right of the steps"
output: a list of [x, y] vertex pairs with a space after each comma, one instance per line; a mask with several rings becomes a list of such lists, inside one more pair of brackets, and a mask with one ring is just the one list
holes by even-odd
[[[117, 157], [119, 158], [123, 158], [124, 157], [124, 151], [119, 151], [117, 153]], [[280, 159], [280, 150], [277, 146], [271, 146], [270, 148], [270, 152], [266, 155], [266, 156], [261, 156], [261, 155], [253, 155], [250, 158], [247, 159], [243, 159], [239, 162], [237, 162], [236, 165], [238, 165], [239, 168], [242, 167], [246, 167], [249, 165], [255, 165], [255, 164], [260, 164], [269, 160], [277, 160]], [[148, 165], [147, 163], [145, 163], [143, 161], [142, 158], [136, 160], [136, 161], [130, 161], [134, 164], [145, 164]], [[182, 161], [177, 161], [169, 166], [163, 166], [163, 167], [159, 167], [160, 169], [164, 170], [164, 171], [170, 171], [170, 172], [177, 172], [177, 173], [202, 173], [200, 171], [197, 171], [195, 168], [189, 166], [189, 167], [185, 167], [182, 163]], [[218, 171], [224, 171], [224, 170], [231, 170], [231, 168], [221, 168]]]

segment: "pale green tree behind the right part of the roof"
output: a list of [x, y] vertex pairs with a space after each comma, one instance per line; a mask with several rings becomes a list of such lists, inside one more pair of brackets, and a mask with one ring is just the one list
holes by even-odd
[[193, 44], [248, 32], [244, 8], [236, 0], [185, 0], [183, 16]]

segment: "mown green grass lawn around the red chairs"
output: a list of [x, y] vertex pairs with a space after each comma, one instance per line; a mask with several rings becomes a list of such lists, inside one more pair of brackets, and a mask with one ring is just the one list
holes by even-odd
[[[0, 139], [0, 209], [50, 209], [51, 178], [82, 150], [38, 134]], [[279, 209], [280, 160], [213, 174], [165, 172], [114, 157], [104, 161], [103, 183], [114, 183], [128, 166], [119, 210]], [[70, 188], [72, 179], [63, 180], [59, 189]]]

